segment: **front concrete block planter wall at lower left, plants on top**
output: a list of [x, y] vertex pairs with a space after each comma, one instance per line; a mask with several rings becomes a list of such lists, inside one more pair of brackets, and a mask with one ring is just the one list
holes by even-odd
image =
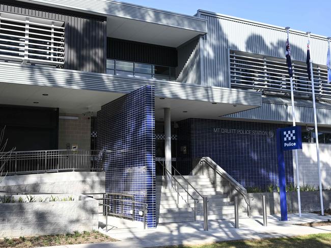
[[[68, 195], [59, 197], [65, 196]], [[20, 196], [14, 197], [18, 202]], [[83, 195], [73, 195], [73, 198], [74, 201], [0, 203], [0, 237], [97, 230], [98, 201]]]

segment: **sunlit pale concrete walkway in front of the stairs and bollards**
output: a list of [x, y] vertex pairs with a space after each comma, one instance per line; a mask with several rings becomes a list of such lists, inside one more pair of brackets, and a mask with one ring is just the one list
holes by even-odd
[[[108, 218], [107, 234], [119, 239], [119, 242], [98, 244], [73, 244], [57, 247], [70, 248], [124, 248], [124, 247], [153, 247], [175, 244], [200, 244], [215, 241], [235, 239], [255, 239], [267, 237], [297, 236], [316, 233], [329, 233], [331, 226], [306, 227], [293, 224], [327, 221], [331, 216], [319, 216], [303, 213], [302, 218], [297, 214], [289, 214], [288, 222], [279, 221], [279, 216], [268, 215], [268, 226], [263, 227], [262, 216], [239, 220], [239, 229], [234, 228], [233, 221], [209, 221], [209, 231], [203, 230], [203, 222], [160, 224], [156, 229], [143, 229], [141, 223]], [[101, 220], [101, 222], [103, 222]], [[54, 248], [54, 246], [53, 246]]]

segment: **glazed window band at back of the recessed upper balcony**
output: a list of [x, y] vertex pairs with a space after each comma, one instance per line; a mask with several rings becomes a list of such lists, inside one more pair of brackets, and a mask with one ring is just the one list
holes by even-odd
[[175, 81], [174, 67], [156, 66], [123, 60], [107, 59], [107, 74], [143, 79], [160, 79]]

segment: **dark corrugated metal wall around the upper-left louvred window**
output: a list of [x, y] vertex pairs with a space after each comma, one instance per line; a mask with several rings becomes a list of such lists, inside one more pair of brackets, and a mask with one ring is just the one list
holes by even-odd
[[16, 1], [1, 1], [0, 11], [65, 22], [65, 69], [105, 72], [106, 22], [102, 17], [80, 16]]

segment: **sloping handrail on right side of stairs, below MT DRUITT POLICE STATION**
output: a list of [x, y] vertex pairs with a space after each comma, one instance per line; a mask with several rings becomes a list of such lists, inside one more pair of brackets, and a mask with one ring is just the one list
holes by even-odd
[[[242, 187], [242, 185], [237, 182], [232, 176], [230, 176], [225, 170], [222, 169], [219, 165], [217, 165], [211, 158], [209, 157], [203, 157], [200, 160], [200, 163], [205, 162], [210, 168], [214, 170], [215, 173], [217, 173], [219, 176], [225, 178], [229, 181], [229, 185], [233, 185], [233, 188], [242, 195], [243, 199], [245, 200], [247, 204], [247, 215], [251, 217], [251, 204], [250, 204], [250, 197], [247, 195], [247, 191], [245, 188]], [[215, 176], [216, 180], [216, 176]], [[216, 183], [216, 181], [214, 182]], [[230, 192], [230, 198], [231, 198], [231, 189], [229, 189]]]

